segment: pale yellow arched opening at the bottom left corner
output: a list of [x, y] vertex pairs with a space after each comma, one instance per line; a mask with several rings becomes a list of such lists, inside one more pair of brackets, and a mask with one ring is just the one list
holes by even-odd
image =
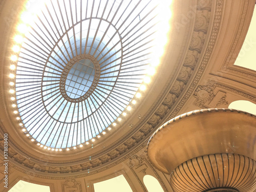
[[9, 192], [50, 192], [50, 187], [46, 185], [39, 185], [30, 183], [27, 181], [19, 180], [10, 190]]

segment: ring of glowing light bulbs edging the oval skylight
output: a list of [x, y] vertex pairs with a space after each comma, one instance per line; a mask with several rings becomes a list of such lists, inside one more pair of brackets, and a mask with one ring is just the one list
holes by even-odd
[[[166, 3], [166, 2], [165, 2]], [[169, 17], [167, 15], [164, 15], [164, 18], [166, 18], [165, 20], [162, 20], [162, 25], [165, 26], [164, 30], [161, 30], [161, 33], [163, 34], [159, 34], [157, 36], [160, 36], [160, 38], [166, 37], [165, 41], [167, 41], [167, 33], [169, 31], [169, 25], [168, 25], [168, 20], [170, 18], [170, 10], [169, 10], [169, 6], [171, 4], [171, 1], [167, 1], [167, 5], [165, 4], [161, 7], [161, 9], [165, 9], [165, 11], [161, 11], [162, 13], [168, 13]], [[25, 11], [26, 12], [26, 11]], [[101, 132], [100, 134], [98, 134], [96, 137], [90, 139], [89, 141], [86, 141], [84, 143], [81, 143], [77, 146], [73, 146], [73, 147], [68, 147], [68, 148], [51, 148], [45, 145], [42, 145], [41, 143], [37, 142], [35, 139], [32, 138], [32, 136], [29, 134], [29, 132], [26, 130], [26, 127], [24, 126], [20, 116], [19, 116], [19, 112], [17, 110], [17, 103], [16, 103], [16, 98], [15, 98], [15, 74], [16, 74], [16, 66], [17, 66], [17, 60], [18, 60], [18, 55], [19, 55], [19, 51], [20, 51], [20, 47], [22, 46], [23, 43], [23, 39], [25, 37], [25, 34], [27, 32], [27, 28], [28, 28], [28, 23], [26, 23], [26, 21], [22, 18], [21, 21], [19, 22], [19, 25], [17, 26], [17, 31], [16, 31], [16, 35], [13, 38], [14, 41], [14, 45], [12, 47], [12, 54], [10, 56], [10, 100], [11, 100], [11, 106], [13, 108], [13, 114], [16, 117], [16, 122], [20, 127], [20, 130], [25, 134], [25, 136], [27, 138], [30, 139], [31, 142], [35, 143], [38, 147], [43, 148], [44, 150], [47, 151], [51, 151], [51, 152], [62, 152], [62, 151], [71, 151], [71, 150], [77, 150], [78, 148], [82, 148], [83, 146], [90, 146], [89, 144], [94, 143], [97, 139], [101, 138], [102, 136], [106, 135], [108, 132], [110, 132], [112, 130], [113, 127], [116, 127], [118, 125], [120, 125], [122, 118], [125, 117], [130, 111], [132, 111], [135, 108], [135, 105], [138, 104], [138, 101], [140, 98], [142, 98], [144, 96], [144, 91], [147, 89], [148, 84], [151, 82], [151, 77], [155, 74], [156, 72], [156, 67], [159, 64], [159, 60], [160, 57], [162, 56], [163, 53], [161, 53], [158, 55], [158, 58], [154, 61], [151, 62], [151, 66], [148, 69], [147, 75], [144, 77], [143, 83], [141, 84], [139, 90], [137, 91], [137, 93], [134, 95], [134, 98], [132, 99], [132, 101], [130, 102], [129, 105], [126, 106], [126, 109], [121, 113], [121, 115], [111, 124], [109, 125], [109, 127]], [[166, 27], [167, 26], [167, 27]], [[160, 30], [159, 30], [160, 31]], [[157, 41], [157, 40], [156, 40]], [[161, 40], [161, 42], [163, 42], [164, 40]], [[159, 48], [161, 48], [161, 50], [163, 50], [165, 46], [165, 43], [162, 43], [161, 45], [156, 46], [156, 50], [159, 51]], [[91, 147], [93, 148], [93, 144], [91, 145]]]

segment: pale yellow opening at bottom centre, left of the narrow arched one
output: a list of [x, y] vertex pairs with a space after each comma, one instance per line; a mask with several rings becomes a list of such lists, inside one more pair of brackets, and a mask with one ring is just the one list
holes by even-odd
[[132, 192], [132, 188], [123, 175], [119, 175], [112, 179], [94, 183], [94, 191], [112, 191], [112, 192]]

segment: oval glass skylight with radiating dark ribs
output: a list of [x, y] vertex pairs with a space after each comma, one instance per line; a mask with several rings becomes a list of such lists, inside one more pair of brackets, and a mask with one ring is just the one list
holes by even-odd
[[115, 123], [150, 67], [156, 2], [28, 5], [36, 16], [26, 24], [18, 56], [16, 101], [30, 138], [47, 147], [72, 147]]

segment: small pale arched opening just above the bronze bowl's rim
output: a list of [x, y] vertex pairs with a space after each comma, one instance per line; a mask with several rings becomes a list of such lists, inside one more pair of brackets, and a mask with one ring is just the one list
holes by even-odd
[[228, 105], [229, 109], [241, 110], [256, 115], [256, 104], [246, 101], [246, 100], [237, 100], [233, 101]]

